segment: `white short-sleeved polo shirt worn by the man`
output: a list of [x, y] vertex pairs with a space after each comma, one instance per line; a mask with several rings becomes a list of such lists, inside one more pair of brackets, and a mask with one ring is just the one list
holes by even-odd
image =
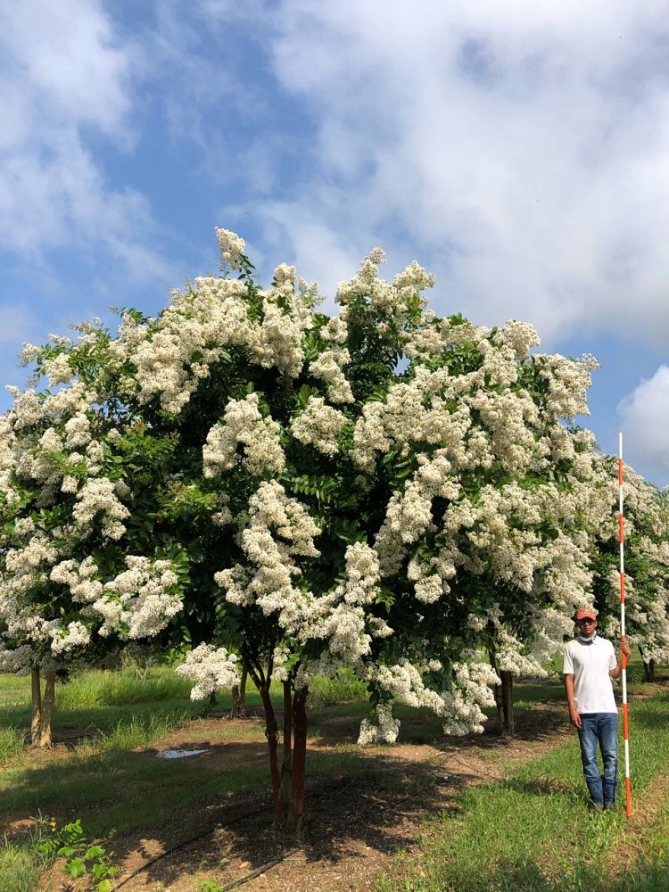
[[617, 713], [609, 670], [617, 665], [614, 646], [604, 638], [578, 638], [565, 648], [563, 675], [574, 675], [574, 702], [578, 713]]

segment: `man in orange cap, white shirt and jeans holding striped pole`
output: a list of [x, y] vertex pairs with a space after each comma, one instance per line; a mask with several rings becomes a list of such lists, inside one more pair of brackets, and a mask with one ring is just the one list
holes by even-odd
[[[585, 782], [592, 807], [597, 811], [615, 808], [615, 772], [618, 758], [618, 710], [612, 678], [620, 675], [611, 641], [597, 634], [597, 611], [588, 607], [576, 613], [578, 635], [565, 648], [562, 673], [565, 676], [569, 718], [578, 731]], [[627, 657], [632, 650], [624, 638], [620, 648]], [[597, 745], [604, 773], [599, 774]]]

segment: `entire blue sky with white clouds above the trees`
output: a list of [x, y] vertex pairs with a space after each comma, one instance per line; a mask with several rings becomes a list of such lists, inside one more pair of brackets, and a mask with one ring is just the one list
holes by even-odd
[[668, 45], [651, 0], [0, 0], [0, 377], [158, 310], [216, 226], [330, 295], [380, 244], [594, 353], [586, 423], [669, 483]]

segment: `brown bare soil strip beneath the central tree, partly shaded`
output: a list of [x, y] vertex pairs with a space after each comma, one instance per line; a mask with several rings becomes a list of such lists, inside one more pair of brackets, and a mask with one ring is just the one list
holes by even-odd
[[[205, 731], [206, 723], [200, 724]], [[310, 740], [309, 755], [336, 756], [326, 723], [319, 720], [319, 727], [323, 736]], [[372, 888], [395, 855], [417, 846], [426, 817], [457, 810], [463, 789], [503, 778], [510, 765], [540, 756], [571, 732], [564, 707], [549, 703], [518, 711], [514, 739], [486, 731], [433, 744], [361, 749], [361, 770], [308, 780], [310, 815], [300, 838], [272, 831], [267, 793], [227, 797], [202, 806], [187, 827], [181, 822], [157, 829], [153, 838], [119, 840], [115, 850], [122, 872], [116, 888], [194, 892], [204, 878], [227, 888], [255, 872], [260, 875], [244, 885], [249, 892]], [[339, 733], [335, 737], [341, 742]], [[202, 740], [194, 742], [191, 727], [172, 732], [161, 748], [195, 748], [197, 743]], [[192, 757], [206, 759], [212, 775], [266, 758], [260, 742], [252, 753], [248, 743], [239, 749], [233, 742], [213, 748], [207, 756]], [[240, 757], [243, 762], [235, 761]], [[139, 872], [128, 879], [133, 871]]]

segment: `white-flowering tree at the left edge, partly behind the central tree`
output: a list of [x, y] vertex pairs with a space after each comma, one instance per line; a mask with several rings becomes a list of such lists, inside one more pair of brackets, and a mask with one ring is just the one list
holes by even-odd
[[[153, 470], [170, 450], [113, 394], [95, 326], [78, 342], [26, 345], [55, 392], [11, 389], [0, 418], [0, 671], [32, 676], [31, 737], [51, 743], [54, 682], [113, 640], [160, 632], [187, 566], [153, 533]], [[45, 674], [42, 698], [40, 673]]]

